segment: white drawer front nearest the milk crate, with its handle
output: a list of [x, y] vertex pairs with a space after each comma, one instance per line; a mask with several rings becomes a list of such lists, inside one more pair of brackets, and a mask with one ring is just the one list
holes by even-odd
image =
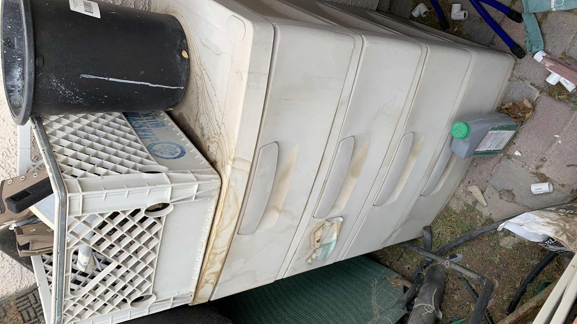
[[275, 46], [255, 162], [214, 298], [275, 280], [358, 62], [350, 33], [269, 19]]

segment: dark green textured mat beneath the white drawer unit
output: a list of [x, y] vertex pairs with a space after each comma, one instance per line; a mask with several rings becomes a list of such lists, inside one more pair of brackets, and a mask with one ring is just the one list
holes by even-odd
[[[303, 261], [304, 262], [304, 261]], [[215, 300], [234, 324], [395, 324], [403, 295], [391, 270], [356, 257]]]

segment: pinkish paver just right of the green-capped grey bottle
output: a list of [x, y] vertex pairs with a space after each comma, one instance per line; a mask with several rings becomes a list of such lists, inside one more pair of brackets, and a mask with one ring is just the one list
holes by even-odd
[[508, 150], [509, 155], [519, 150], [522, 155], [515, 156], [515, 159], [532, 168], [543, 165], [542, 159], [545, 159], [547, 151], [559, 141], [555, 135], [561, 134], [574, 115], [575, 112], [568, 104], [549, 96], [540, 96], [535, 103], [534, 119], [519, 130], [514, 144]]

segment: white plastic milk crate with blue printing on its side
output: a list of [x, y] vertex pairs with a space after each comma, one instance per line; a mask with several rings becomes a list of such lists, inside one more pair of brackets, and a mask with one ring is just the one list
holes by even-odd
[[[192, 301], [220, 178], [164, 112], [44, 116], [54, 254], [33, 257], [47, 323], [119, 323]], [[78, 270], [78, 249], [98, 268]]]

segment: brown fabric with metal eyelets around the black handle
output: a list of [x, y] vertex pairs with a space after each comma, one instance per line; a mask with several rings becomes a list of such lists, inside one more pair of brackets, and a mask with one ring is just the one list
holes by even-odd
[[[35, 174], [36, 176], [34, 176]], [[18, 191], [32, 186], [32, 184], [35, 184], [40, 180], [46, 179], [47, 176], [48, 172], [46, 171], [30, 172], [29, 174], [15, 176], [14, 178], [2, 180], [2, 182], [0, 182], [0, 224], [23, 220], [24, 218], [33, 215], [29, 209], [18, 214], [10, 212], [10, 210], [6, 208], [5, 199]]]

